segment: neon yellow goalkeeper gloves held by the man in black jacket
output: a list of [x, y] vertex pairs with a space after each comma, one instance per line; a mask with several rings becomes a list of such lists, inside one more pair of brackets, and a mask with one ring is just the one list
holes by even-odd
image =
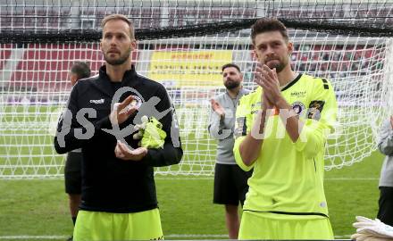
[[141, 120], [142, 123], [135, 126], [138, 132], [133, 136], [134, 139], [140, 139], [138, 145], [146, 148], [162, 148], [166, 137], [163, 124], [155, 117], [143, 116]]

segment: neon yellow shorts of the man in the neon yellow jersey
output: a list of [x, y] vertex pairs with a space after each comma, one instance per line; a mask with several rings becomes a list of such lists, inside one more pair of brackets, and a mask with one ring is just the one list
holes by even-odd
[[270, 212], [242, 214], [238, 239], [334, 239], [328, 218]]

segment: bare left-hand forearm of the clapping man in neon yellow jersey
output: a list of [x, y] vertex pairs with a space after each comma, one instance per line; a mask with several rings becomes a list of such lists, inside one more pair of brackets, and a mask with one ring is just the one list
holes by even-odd
[[260, 154], [265, 120], [266, 111], [258, 112], [258, 117], [251, 132], [247, 134], [247, 137], [239, 145], [241, 159], [247, 166], [251, 166]]

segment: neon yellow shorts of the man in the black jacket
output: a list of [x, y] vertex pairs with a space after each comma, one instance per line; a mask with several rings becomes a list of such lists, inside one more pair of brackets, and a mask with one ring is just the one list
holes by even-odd
[[158, 209], [113, 213], [79, 211], [74, 241], [163, 239]]

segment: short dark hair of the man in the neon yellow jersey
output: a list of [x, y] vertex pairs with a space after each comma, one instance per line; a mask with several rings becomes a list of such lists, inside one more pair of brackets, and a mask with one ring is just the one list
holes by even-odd
[[255, 45], [255, 37], [258, 34], [270, 31], [280, 31], [282, 37], [288, 42], [288, 31], [284, 23], [276, 18], [262, 18], [255, 21], [254, 25], [251, 26], [251, 40], [253, 41], [253, 45]]

